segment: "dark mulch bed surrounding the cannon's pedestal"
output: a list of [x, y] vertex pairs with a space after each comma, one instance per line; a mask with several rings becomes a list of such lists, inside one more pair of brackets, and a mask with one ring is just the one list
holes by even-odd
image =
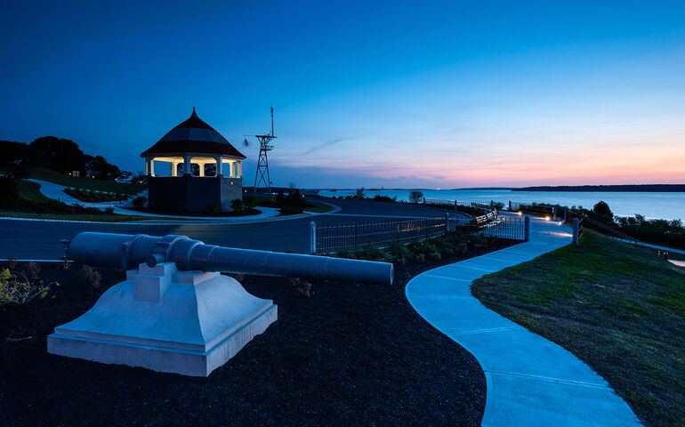
[[[504, 240], [480, 254], [510, 246]], [[479, 425], [485, 376], [478, 362], [412, 309], [416, 274], [477, 254], [396, 266], [392, 286], [313, 282], [303, 296], [286, 278], [245, 277], [278, 304], [278, 321], [208, 378], [68, 359], [46, 335], [83, 314], [123, 278], [43, 264], [50, 295], [0, 307], [0, 425]]]

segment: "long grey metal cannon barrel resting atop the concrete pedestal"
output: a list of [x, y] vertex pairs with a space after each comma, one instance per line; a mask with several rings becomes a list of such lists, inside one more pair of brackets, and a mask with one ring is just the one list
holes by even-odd
[[175, 262], [178, 270], [392, 283], [392, 264], [389, 262], [205, 245], [178, 235], [83, 232], [68, 243], [65, 255], [76, 262], [125, 270], [141, 262], [147, 262], [150, 267], [159, 262]]

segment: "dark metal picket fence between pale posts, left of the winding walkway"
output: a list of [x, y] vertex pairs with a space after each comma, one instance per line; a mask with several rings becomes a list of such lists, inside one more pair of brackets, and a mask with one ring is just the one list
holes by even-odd
[[312, 254], [335, 254], [361, 249], [367, 245], [378, 247], [393, 243], [409, 243], [436, 238], [450, 230], [480, 234], [486, 237], [525, 240], [525, 222], [521, 218], [497, 216], [489, 222], [475, 218], [426, 217], [411, 220], [378, 221], [366, 223], [337, 223], [316, 225], [312, 223]]

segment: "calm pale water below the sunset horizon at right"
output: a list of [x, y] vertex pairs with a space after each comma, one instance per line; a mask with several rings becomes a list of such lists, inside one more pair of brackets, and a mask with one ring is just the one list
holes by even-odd
[[[367, 197], [380, 194], [388, 197], [398, 197], [407, 200], [411, 189], [383, 189], [379, 191], [367, 190]], [[509, 189], [421, 189], [426, 198], [442, 198], [446, 200], [463, 200], [471, 202], [486, 202], [495, 200], [505, 205], [512, 202], [519, 203], [550, 203], [566, 206], [592, 206], [603, 200], [608, 203], [614, 214], [619, 216], [633, 216], [641, 214], [647, 218], [662, 218], [665, 220], [685, 221], [685, 193], [650, 193], [650, 192], [590, 192], [590, 191], [512, 191]], [[354, 194], [353, 189], [338, 189], [336, 191], [322, 189], [321, 196], [348, 196]]]

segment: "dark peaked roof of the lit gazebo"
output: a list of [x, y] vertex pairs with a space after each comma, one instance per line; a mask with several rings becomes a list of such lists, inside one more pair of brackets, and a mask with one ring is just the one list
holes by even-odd
[[230, 142], [197, 117], [195, 107], [190, 117], [167, 132], [155, 145], [141, 153], [141, 157], [166, 155], [182, 156], [199, 154], [246, 158]]

